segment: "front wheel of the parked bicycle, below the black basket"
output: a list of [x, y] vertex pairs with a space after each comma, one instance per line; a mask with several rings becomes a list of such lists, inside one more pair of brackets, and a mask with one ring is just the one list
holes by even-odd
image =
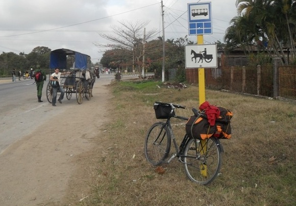
[[153, 124], [147, 132], [145, 157], [153, 165], [160, 165], [168, 156], [170, 150], [170, 133], [163, 122]]

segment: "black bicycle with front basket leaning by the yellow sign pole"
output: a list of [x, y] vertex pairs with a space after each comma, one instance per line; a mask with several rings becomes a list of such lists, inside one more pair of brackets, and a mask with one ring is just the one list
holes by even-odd
[[[177, 116], [176, 108], [185, 109], [184, 106], [172, 103], [156, 101], [154, 104], [156, 117], [166, 119], [165, 122], [156, 122], [148, 130], [144, 152], [148, 162], [152, 165], [169, 163], [172, 159], [178, 160], [184, 164], [184, 169], [190, 181], [200, 185], [211, 183], [218, 175], [223, 152], [223, 147], [219, 139], [214, 135], [206, 140], [189, 138], [186, 134], [178, 146], [174, 132], [172, 131], [170, 119], [178, 118], [188, 120], [187, 117]], [[201, 115], [201, 111], [192, 109], [195, 116]], [[174, 144], [176, 152], [168, 158], [171, 141]]]

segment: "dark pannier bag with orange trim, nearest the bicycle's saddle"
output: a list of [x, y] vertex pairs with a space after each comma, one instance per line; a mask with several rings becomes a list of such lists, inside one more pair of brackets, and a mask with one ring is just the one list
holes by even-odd
[[211, 126], [202, 116], [191, 116], [186, 122], [185, 130], [189, 138], [205, 140], [216, 132], [216, 126]]

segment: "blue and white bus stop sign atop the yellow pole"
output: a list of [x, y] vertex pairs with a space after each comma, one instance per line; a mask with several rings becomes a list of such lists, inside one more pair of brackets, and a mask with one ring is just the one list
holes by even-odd
[[189, 35], [212, 34], [211, 3], [188, 4]]

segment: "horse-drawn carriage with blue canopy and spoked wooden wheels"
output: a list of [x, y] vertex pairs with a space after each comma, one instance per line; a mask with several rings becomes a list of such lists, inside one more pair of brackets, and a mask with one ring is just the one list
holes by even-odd
[[[94, 72], [87, 69], [90, 68], [88, 66], [90, 56], [65, 48], [53, 50], [50, 56], [50, 75], [54, 73], [55, 68], [66, 71], [67, 63], [72, 64], [72, 67], [68, 70], [70, 74], [61, 76], [60, 86], [64, 88], [68, 100], [71, 99], [72, 94], [76, 94], [78, 104], [82, 104], [83, 99], [90, 100], [92, 97], [92, 88], [95, 82]], [[53, 88], [51, 81], [48, 82], [46, 87], [46, 97], [52, 103]]]

